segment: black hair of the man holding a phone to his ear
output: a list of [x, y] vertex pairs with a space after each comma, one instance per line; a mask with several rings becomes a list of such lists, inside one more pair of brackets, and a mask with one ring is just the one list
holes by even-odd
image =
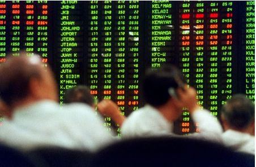
[[148, 69], [142, 83], [146, 103], [154, 107], [167, 103], [170, 98], [168, 89], [177, 89], [177, 82], [184, 84], [185, 78], [173, 65], [164, 64], [158, 69]]

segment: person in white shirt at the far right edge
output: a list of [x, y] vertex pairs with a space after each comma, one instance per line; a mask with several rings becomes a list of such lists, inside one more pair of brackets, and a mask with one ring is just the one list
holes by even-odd
[[255, 107], [245, 95], [237, 94], [221, 109], [223, 143], [235, 151], [255, 154]]

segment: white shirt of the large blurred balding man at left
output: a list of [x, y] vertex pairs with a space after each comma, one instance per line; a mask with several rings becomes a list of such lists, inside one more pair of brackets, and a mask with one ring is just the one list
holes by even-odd
[[0, 126], [0, 141], [21, 150], [40, 146], [96, 151], [112, 142], [103, 120], [82, 103], [59, 107], [43, 100], [14, 111], [12, 120]]

